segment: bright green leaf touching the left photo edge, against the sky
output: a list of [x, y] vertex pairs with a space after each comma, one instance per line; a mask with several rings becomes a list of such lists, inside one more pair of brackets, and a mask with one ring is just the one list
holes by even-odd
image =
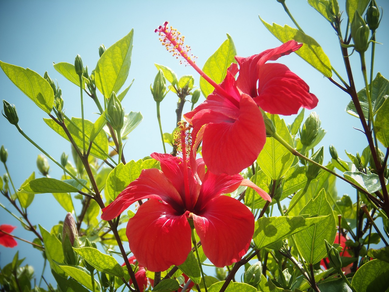
[[54, 91], [50, 84], [31, 69], [25, 69], [0, 61], [5, 75], [37, 106], [50, 113], [54, 104]]

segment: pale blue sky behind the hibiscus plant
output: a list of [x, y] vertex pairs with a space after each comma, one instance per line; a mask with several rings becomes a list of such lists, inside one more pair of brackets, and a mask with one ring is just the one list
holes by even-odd
[[[344, 2], [340, 1], [344, 10]], [[289, 9], [305, 33], [314, 37], [329, 56], [331, 64], [345, 78], [342, 69], [337, 37], [329, 23], [322, 18], [305, 1], [287, 1]], [[384, 10], [387, 2], [378, 1]], [[155, 104], [149, 86], [153, 82], [159, 63], [172, 68], [178, 76], [193, 74], [195, 85], [199, 76], [191, 67], [180, 65], [175, 58], [161, 46], [154, 29], [169, 21], [185, 35], [186, 44], [192, 47], [192, 53], [198, 57], [197, 64], [202, 67], [207, 58], [216, 51], [229, 33], [234, 40], [239, 56], [250, 56], [265, 49], [280, 45], [279, 40], [261, 24], [258, 14], [268, 23], [288, 24], [294, 26], [282, 6], [274, 1], [196, 1], [162, 2], [162, 1], [0, 1], [0, 60], [21, 67], [28, 67], [43, 76], [47, 70], [51, 78], [56, 79], [62, 89], [68, 116], [81, 116], [79, 107], [79, 89], [68, 82], [53, 68], [53, 62], [73, 63], [77, 54], [81, 55], [89, 72], [95, 67], [99, 58], [98, 47], [109, 47], [134, 28], [132, 63], [128, 86], [135, 81], [123, 100], [126, 112], [140, 111], [144, 119], [128, 136], [124, 148], [126, 160], [138, 160], [152, 152], [163, 151], [156, 119]], [[345, 16], [345, 12], [344, 12]], [[381, 72], [389, 76], [387, 48], [388, 19], [384, 18], [377, 31], [377, 40], [383, 45], [376, 46], [376, 66], [374, 75]], [[370, 60], [367, 56], [367, 60]], [[351, 56], [355, 69], [357, 89], [363, 87], [359, 56]], [[284, 56], [278, 62], [286, 64], [310, 86], [319, 104], [315, 111], [319, 114], [322, 127], [327, 134], [320, 143], [324, 145], [325, 160], [330, 159], [329, 144], [334, 144], [341, 158], [346, 158], [343, 150], [351, 153], [362, 152], [366, 146], [364, 136], [353, 127], [359, 128], [359, 120], [345, 113], [349, 97], [331, 84], [319, 72], [313, 69], [297, 55]], [[63, 151], [70, 154], [70, 145], [54, 133], [42, 118], [47, 115], [33, 104], [11, 81], [0, 72], [0, 95], [2, 99], [15, 104], [19, 113], [19, 125], [35, 142], [47, 150], [54, 158], [60, 159]], [[203, 97], [201, 97], [203, 100]], [[86, 99], [86, 98], [85, 98]], [[169, 93], [161, 103], [161, 118], [164, 132], [172, 132], [175, 124], [175, 106], [177, 97]], [[189, 111], [190, 104], [185, 111]], [[97, 109], [91, 100], [85, 101], [86, 118], [95, 121]], [[307, 117], [308, 111], [305, 113]], [[285, 117], [291, 123], [294, 117]], [[33, 172], [39, 177], [35, 161], [40, 151], [29, 144], [3, 117], [0, 117], [0, 144], [8, 149], [7, 165], [16, 187]], [[169, 150], [168, 150], [169, 151]], [[71, 157], [71, 155], [69, 156]], [[61, 171], [50, 162], [50, 176], [59, 178]], [[5, 173], [0, 165], [0, 174]], [[338, 182], [339, 195], [355, 195], [352, 188]], [[9, 206], [4, 198], [0, 202]], [[77, 206], [80, 209], [79, 206]], [[12, 209], [12, 208], [11, 208]], [[12, 209], [12, 211], [14, 211]], [[33, 224], [40, 223], [46, 229], [65, 218], [66, 212], [50, 194], [35, 196], [35, 201], [28, 208]], [[33, 234], [11, 218], [4, 210], [0, 211], [0, 224], [9, 223], [18, 226], [14, 234], [32, 240]], [[42, 257], [28, 244], [19, 242], [20, 257], [37, 267], [39, 277]], [[16, 250], [0, 247], [0, 265], [9, 262]]]

